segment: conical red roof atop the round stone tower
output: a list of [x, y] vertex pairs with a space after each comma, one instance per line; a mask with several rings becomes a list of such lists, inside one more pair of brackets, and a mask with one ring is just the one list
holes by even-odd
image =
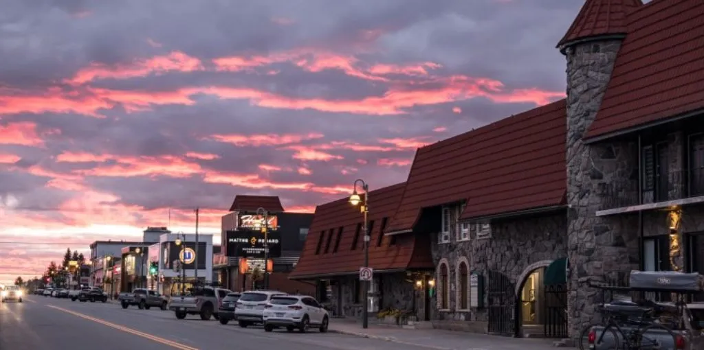
[[586, 0], [558, 48], [588, 37], [626, 34], [628, 13], [642, 5], [641, 0]]

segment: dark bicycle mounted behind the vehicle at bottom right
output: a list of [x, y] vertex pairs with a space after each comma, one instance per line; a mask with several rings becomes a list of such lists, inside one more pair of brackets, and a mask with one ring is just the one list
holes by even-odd
[[[606, 324], [595, 323], [584, 328], [579, 335], [579, 350], [657, 350], [661, 349], [658, 338], [665, 335], [672, 337], [674, 344], [677, 336], [672, 329], [655, 321], [656, 307], [643, 309], [641, 316], [634, 320], [623, 311], [600, 306], [600, 311], [607, 315]], [[596, 327], [603, 327], [598, 337], [593, 329]], [[605, 337], [607, 334], [609, 336]]]

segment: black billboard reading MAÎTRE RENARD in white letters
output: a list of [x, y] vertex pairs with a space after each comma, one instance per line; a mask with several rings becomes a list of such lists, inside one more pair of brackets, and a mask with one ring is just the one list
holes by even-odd
[[[264, 259], [264, 233], [255, 230], [227, 231], [227, 255], [229, 257], [245, 257]], [[267, 235], [269, 257], [281, 257], [281, 240], [279, 233], [269, 232]]]

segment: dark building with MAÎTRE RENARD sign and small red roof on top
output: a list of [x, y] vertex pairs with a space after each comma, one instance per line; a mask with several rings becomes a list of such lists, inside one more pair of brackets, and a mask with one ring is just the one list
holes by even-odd
[[[269, 240], [268, 263], [265, 263], [263, 254], [263, 211], [268, 213], [268, 222], [265, 223]], [[313, 214], [285, 212], [276, 196], [235, 196], [230, 213], [222, 216], [222, 252], [213, 257], [220, 284], [237, 291], [262, 287], [263, 272], [268, 271], [270, 289], [313, 294], [313, 285], [288, 278], [298, 262], [312, 220]], [[267, 268], [265, 264], [268, 264]]]

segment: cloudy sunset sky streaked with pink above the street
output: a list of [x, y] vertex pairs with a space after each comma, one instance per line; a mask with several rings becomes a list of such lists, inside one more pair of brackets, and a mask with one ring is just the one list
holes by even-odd
[[192, 233], [196, 207], [218, 235], [237, 194], [313, 212], [406, 181], [416, 148], [565, 96], [555, 44], [582, 4], [6, 1], [0, 283]]

